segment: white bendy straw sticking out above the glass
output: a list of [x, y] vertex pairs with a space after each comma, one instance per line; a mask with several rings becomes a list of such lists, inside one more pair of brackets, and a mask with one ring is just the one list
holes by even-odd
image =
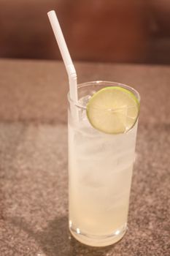
[[63, 37], [63, 33], [61, 31], [61, 26], [58, 22], [57, 15], [55, 11], [47, 12], [48, 18], [50, 20], [53, 32], [55, 34], [55, 39], [58, 42], [58, 47], [61, 51], [61, 56], [63, 58], [63, 62], [66, 66], [66, 71], [69, 75], [69, 92], [70, 98], [77, 102], [77, 73], [72, 63], [72, 59], [69, 54], [69, 50], [66, 46], [65, 39]]

